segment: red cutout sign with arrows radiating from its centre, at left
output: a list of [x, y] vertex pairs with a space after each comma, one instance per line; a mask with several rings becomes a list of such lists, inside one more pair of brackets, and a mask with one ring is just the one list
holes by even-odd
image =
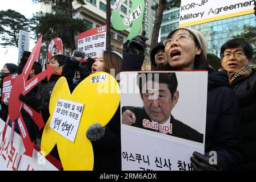
[[[15, 77], [15, 80], [12, 82], [6, 82], [5, 85], [12, 84], [11, 86], [7, 86], [5, 89], [5, 92], [10, 92], [9, 96], [9, 107], [8, 107], [8, 115], [6, 119], [6, 124], [3, 129], [2, 138], [5, 138], [6, 130], [9, 122], [14, 122], [17, 120], [19, 131], [21, 133], [21, 137], [23, 140], [23, 144], [26, 148], [26, 151], [24, 152], [25, 155], [32, 157], [33, 156], [33, 147], [34, 142], [31, 142], [29, 134], [27, 132], [27, 128], [25, 125], [25, 121], [21, 114], [21, 108], [25, 109], [27, 114], [30, 115], [30, 117], [34, 120], [36, 125], [38, 126], [38, 129], [41, 130], [42, 127], [45, 125], [43, 122], [43, 118], [41, 113], [37, 113], [37, 111], [33, 110], [31, 107], [24, 104], [22, 101], [19, 100], [19, 95], [30, 92], [31, 89], [34, 88], [35, 85], [37, 85], [43, 78], [46, 76], [48, 77], [48, 80], [51, 76], [51, 73], [53, 73], [53, 67], [47, 66], [47, 69], [41, 73], [39, 73], [37, 76], [34, 76], [33, 78], [30, 78], [27, 80], [27, 78], [30, 75], [31, 68], [33, 67], [34, 61], [39, 57], [40, 49], [42, 44], [42, 36], [39, 38], [37, 44], [34, 46], [32, 53], [29, 56], [29, 59], [27, 60], [27, 63], [25, 67], [22, 70], [22, 73]], [[14, 140], [14, 125], [12, 125], [12, 137], [11, 137], [11, 146], [13, 145]]]

